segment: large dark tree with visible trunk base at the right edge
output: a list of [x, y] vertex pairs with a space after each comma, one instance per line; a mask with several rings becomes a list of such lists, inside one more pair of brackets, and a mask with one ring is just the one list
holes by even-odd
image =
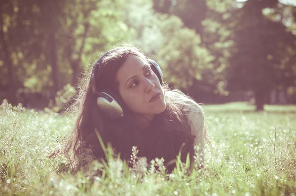
[[263, 8], [276, 5], [277, 0], [248, 0], [230, 24], [234, 45], [225, 70], [227, 89], [252, 90], [257, 110], [263, 109], [270, 90], [295, 81], [296, 62], [292, 57], [296, 54], [296, 37], [281, 22], [262, 14]]

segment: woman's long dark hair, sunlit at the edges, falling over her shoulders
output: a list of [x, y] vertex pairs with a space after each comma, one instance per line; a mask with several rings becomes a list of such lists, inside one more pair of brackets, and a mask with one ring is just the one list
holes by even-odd
[[[135, 47], [112, 50], [102, 60], [103, 66], [96, 73], [98, 90], [107, 88], [118, 93], [115, 76], [117, 70], [130, 55], [148, 60], [146, 55]], [[139, 157], [146, 157], [148, 160], [163, 157], [165, 163], [168, 163], [176, 159], [182, 147], [181, 160], [185, 162], [187, 153], [189, 153], [192, 161], [194, 136], [191, 134], [184, 109], [185, 100], [193, 101], [191, 98], [179, 90], [171, 90], [166, 83], [163, 83], [167, 105], [165, 111], [155, 115], [147, 130], [138, 130], [133, 124], [133, 115], [114, 120], [107, 118], [99, 110], [92, 93], [90, 75], [91, 73], [88, 72], [83, 78], [73, 105], [74, 111], [79, 115], [66, 146], [67, 152], [73, 150], [74, 157], [77, 157], [83, 152], [82, 148], [90, 148], [95, 157], [104, 158], [105, 154], [96, 136], [95, 130], [97, 130], [105, 145], [111, 143], [112, 148], [120, 152], [121, 159], [129, 159], [132, 146], [138, 146]], [[174, 164], [168, 165], [167, 169], [171, 171], [173, 167]]]

